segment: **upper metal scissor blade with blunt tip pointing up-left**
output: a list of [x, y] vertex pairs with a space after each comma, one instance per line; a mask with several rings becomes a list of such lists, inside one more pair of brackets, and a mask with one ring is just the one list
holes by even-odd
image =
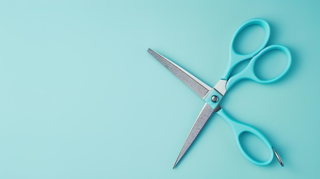
[[201, 80], [197, 79], [194, 75], [181, 68], [177, 64], [163, 57], [162, 55], [154, 52], [152, 49], [148, 49], [147, 52], [152, 55], [157, 61], [168, 68], [174, 75], [176, 75], [182, 82], [188, 85], [195, 93], [197, 93], [202, 99], [205, 94], [208, 93], [212, 88]]

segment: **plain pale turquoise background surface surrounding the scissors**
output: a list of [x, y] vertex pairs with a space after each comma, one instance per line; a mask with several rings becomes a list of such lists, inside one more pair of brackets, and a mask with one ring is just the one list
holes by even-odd
[[[1, 1], [0, 178], [318, 178], [317, 1]], [[172, 166], [203, 101], [147, 52], [213, 86], [232, 35], [267, 20], [292, 67], [221, 106], [277, 148], [254, 165], [214, 115]], [[248, 46], [250, 43], [248, 43]]]

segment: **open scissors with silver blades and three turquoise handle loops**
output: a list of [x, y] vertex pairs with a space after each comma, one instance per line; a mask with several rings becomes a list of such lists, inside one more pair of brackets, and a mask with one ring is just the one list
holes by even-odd
[[[249, 25], [257, 24], [260, 25], [264, 31], [265, 36], [261, 43], [261, 45], [255, 49], [253, 52], [248, 54], [241, 54], [236, 52], [234, 48], [234, 42], [236, 37], [239, 35], [239, 33], [247, 28]], [[216, 83], [216, 85], [211, 88], [207, 84], [203, 83], [199, 79], [197, 79], [194, 75], [189, 73], [187, 70], [181, 68], [177, 64], [173, 63], [172, 61], [168, 60], [164, 56], [154, 52], [150, 48], [147, 50], [147, 52], [152, 55], [157, 61], [159, 61], [162, 65], [164, 65], [167, 69], [169, 69], [173, 74], [177, 76], [182, 82], [184, 82], [187, 86], [189, 86], [196, 94], [198, 94], [204, 101], [205, 105], [203, 106], [199, 116], [197, 117], [194, 125], [192, 126], [192, 129], [182, 146], [182, 149], [179, 153], [179, 156], [177, 157], [177, 160], [173, 166], [173, 168], [177, 165], [177, 163], [180, 161], [182, 156], [185, 155], [188, 148], [191, 146], [193, 141], [196, 139], [198, 134], [201, 132], [203, 126], [211, 115], [213, 113], [217, 113], [220, 115], [230, 126], [232, 127], [237, 145], [239, 150], [241, 151], [242, 155], [250, 162], [257, 164], [257, 165], [267, 165], [269, 164], [272, 159], [276, 156], [278, 161], [280, 162], [281, 166], [284, 166], [281, 157], [279, 156], [277, 150], [272, 147], [268, 139], [255, 127], [245, 124], [243, 122], [239, 122], [235, 119], [233, 119], [231, 116], [229, 116], [220, 106], [220, 102], [223, 99], [223, 96], [225, 93], [230, 90], [230, 88], [239, 82], [240, 80], [249, 79], [253, 80], [257, 83], [267, 84], [271, 82], [275, 82], [282, 78], [283, 75], [286, 74], [286, 72], [289, 70], [289, 67], [291, 65], [291, 54], [287, 47], [283, 45], [270, 45], [266, 46], [270, 36], [270, 27], [269, 24], [260, 18], [254, 18], [249, 19], [245, 22], [243, 22], [239, 29], [236, 31], [236, 33], [233, 36], [233, 40], [231, 41], [230, 45], [230, 56], [228, 60], [227, 67], [222, 74], [220, 80]], [[254, 66], [256, 62], [259, 60], [259, 58], [269, 52], [270, 50], [281, 50], [286, 55], [287, 59], [287, 65], [285, 66], [284, 70], [278, 74], [277, 76], [271, 78], [271, 79], [261, 79], [257, 76]], [[247, 66], [240, 72], [231, 75], [231, 71], [237, 66], [240, 62], [250, 59]], [[269, 158], [265, 161], [257, 160], [250, 155], [247, 154], [247, 152], [244, 150], [244, 148], [241, 145], [240, 142], [240, 135], [244, 132], [252, 133], [256, 135], [268, 148], [269, 151]]]

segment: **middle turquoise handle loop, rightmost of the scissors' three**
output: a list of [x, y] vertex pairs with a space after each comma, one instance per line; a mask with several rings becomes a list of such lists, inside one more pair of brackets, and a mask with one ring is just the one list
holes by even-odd
[[[256, 64], [257, 60], [259, 60], [259, 58], [263, 54], [265, 54], [266, 52], [269, 52], [270, 50], [274, 50], [274, 49], [282, 50], [285, 53], [285, 55], [287, 56], [287, 65], [286, 65], [285, 69], [280, 74], [275, 76], [274, 78], [267, 79], [267, 80], [259, 79], [258, 76], [255, 73], [255, 70], [254, 70], [255, 64]], [[270, 46], [267, 46], [263, 50], [261, 50], [259, 52], [259, 54], [254, 56], [250, 60], [249, 64], [242, 71], [240, 71], [239, 73], [235, 74], [234, 76], [231, 76], [231, 78], [226, 83], [226, 90], [230, 89], [238, 81], [244, 80], [244, 79], [253, 80], [253, 81], [258, 82], [258, 83], [272, 83], [272, 82], [278, 81], [280, 78], [282, 78], [283, 75], [285, 75], [287, 73], [287, 71], [289, 70], [290, 66], [291, 66], [291, 54], [290, 54], [290, 51], [289, 51], [289, 49], [287, 47], [285, 47], [283, 45], [270, 45]]]

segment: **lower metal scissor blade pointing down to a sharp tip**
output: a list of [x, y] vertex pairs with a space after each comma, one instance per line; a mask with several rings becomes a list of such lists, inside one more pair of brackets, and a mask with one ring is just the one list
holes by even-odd
[[210, 116], [214, 113], [214, 111], [215, 110], [213, 108], [211, 108], [208, 105], [208, 103], [206, 103], [203, 106], [197, 120], [195, 121], [195, 123], [192, 126], [192, 129], [191, 129], [191, 131], [190, 131], [190, 133], [184, 143], [184, 146], [182, 146], [180, 154], [179, 154], [177, 160], [175, 161], [173, 168], [177, 165], [177, 163], [180, 161], [182, 156], [184, 156], [186, 154], [186, 151], [191, 146], [193, 141], [197, 138], [197, 136], [201, 132], [203, 126], [205, 125], [205, 123], [207, 123], [207, 121], [209, 120]]

